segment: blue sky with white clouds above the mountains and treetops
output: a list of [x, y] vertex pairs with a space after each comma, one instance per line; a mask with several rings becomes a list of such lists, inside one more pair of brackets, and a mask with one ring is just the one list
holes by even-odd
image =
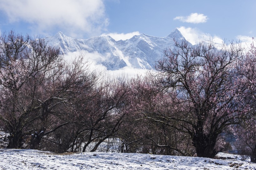
[[135, 34], [165, 37], [178, 28], [192, 44], [211, 37], [250, 42], [256, 36], [255, 0], [0, 0], [0, 30], [72, 38]]

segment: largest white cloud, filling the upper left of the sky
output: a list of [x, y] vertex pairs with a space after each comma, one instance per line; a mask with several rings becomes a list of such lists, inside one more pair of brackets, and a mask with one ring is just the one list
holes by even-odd
[[0, 3], [0, 10], [11, 23], [25, 22], [40, 34], [58, 28], [70, 36], [77, 36], [78, 32], [97, 35], [106, 31], [108, 25], [103, 0], [0, 0]]

